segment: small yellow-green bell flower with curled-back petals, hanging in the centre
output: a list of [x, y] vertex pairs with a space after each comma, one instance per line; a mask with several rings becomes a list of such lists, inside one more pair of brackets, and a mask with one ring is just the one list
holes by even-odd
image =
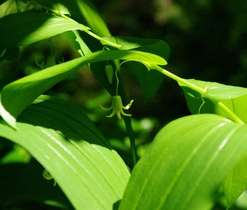
[[113, 96], [112, 97], [112, 104], [109, 108], [104, 108], [103, 106], [100, 105], [100, 107], [106, 111], [112, 110], [112, 113], [106, 117], [113, 117], [115, 114], [117, 115], [118, 119], [121, 120], [121, 115], [126, 116], [126, 117], [131, 117], [131, 114], [126, 114], [124, 110], [128, 110], [134, 100], [131, 100], [128, 105], [123, 106], [122, 98], [119, 95]]

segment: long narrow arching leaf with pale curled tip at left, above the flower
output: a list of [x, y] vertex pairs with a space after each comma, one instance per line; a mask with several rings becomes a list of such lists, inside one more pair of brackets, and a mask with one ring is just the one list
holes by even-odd
[[66, 79], [72, 72], [88, 63], [115, 59], [141, 62], [148, 68], [166, 64], [165, 59], [151, 53], [131, 50], [98, 51], [82, 58], [46, 68], [6, 85], [1, 91], [1, 116], [9, 125], [16, 127], [15, 118], [34, 99], [61, 80]]

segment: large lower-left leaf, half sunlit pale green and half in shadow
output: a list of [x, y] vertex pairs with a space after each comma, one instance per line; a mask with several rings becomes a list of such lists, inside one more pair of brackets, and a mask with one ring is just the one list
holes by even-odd
[[129, 171], [81, 109], [39, 98], [20, 121], [17, 130], [1, 121], [0, 136], [27, 149], [75, 209], [112, 209], [122, 198]]

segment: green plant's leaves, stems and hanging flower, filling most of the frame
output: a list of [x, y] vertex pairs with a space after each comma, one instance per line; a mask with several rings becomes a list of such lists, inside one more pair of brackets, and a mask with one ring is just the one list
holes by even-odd
[[[246, 189], [245, 88], [171, 73], [164, 69], [170, 54], [166, 42], [111, 36], [90, 1], [8, 0], [0, 11], [3, 68], [10, 61], [20, 62], [21, 51], [34, 43], [47, 40], [51, 48], [45, 61], [34, 56], [36, 66], [31, 73], [1, 90], [3, 209], [41, 205], [54, 209], [203, 210], [216, 202], [230, 208]], [[52, 40], [56, 35], [70, 44], [76, 56], [55, 56]], [[121, 77], [124, 68], [137, 78], [145, 101], [156, 93], [164, 76], [175, 80], [192, 113], [164, 126], [140, 160], [133, 119], [125, 111], [131, 110], [133, 100], [129, 103], [126, 97], [128, 84]], [[83, 109], [43, 95], [58, 83], [71, 81], [76, 71], [87, 69], [112, 96], [112, 105], [106, 109], [112, 113], [102, 113], [123, 118], [132, 164], [116, 152]], [[29, 174], [21, 179], [25, 183], [31, 180], [30, 187], [19, 185], [12, 170], [24, 175], [30, 171], [31, 179]], [[55, 186], [42, 178], [42, 171], [44, 178], [54, 179]], [[5, 193], [2, 189], [13, 190]]]

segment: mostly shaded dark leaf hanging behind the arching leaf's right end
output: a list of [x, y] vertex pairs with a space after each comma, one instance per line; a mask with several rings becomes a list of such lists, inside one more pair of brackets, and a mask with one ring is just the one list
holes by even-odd
[[[153, 53], [155, 55], [159, 55], [164, 59], [168, 59], [170, 54], [169, 46], [166, 42], [162, 40], [155, 40], [155, 39], [139, 39], [134, 37], [104, 37], [104, 40], [116, 43], [121, 46], [120, 50], [130, 50], [135, 49], [142, 52]], [[102, 42], [105, 44], [105, 42]], [[107, 47], [111, 48], [111, 46]], [[112, 64], [113, 65], [113, 64]], [[164, 64], [166, 65], [166, 64]], [[112, 94], [115, 94], [115, 87], [116, 84], [113, 83], [110, 85], [106, 77], [104, 75], [103, 69], [105, 68], [106, 63], [101, 64], [93, 64], [91, 69], [95, 75], [95, 77], [100, 81], [100, 83]], [[137, 80], [139, 81], [144, 96], [145, 101], [148, 101], [158, 90], [160, 85], [163, 82], [164, 75], [157, 71], [146, 71], [147, 66], [143, 66], [140, 63], [136, 62], [128, 62], [127, 66], [136, 76]], [[101, 71], [99, 71], [101, 69]]]

